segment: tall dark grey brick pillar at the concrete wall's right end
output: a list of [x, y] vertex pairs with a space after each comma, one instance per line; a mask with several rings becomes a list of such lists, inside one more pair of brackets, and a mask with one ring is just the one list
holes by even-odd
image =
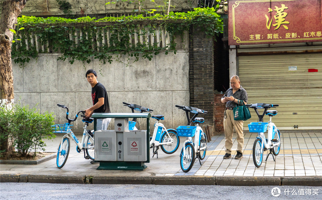
[[208, 111], [208, 115], [198, 117], [205, 119], [202, 126], [208, 125], [210, 133], [213, 133], [213, 38], [207, 38], [199, 27], [193, 27], [189, 37], [190, 106]]

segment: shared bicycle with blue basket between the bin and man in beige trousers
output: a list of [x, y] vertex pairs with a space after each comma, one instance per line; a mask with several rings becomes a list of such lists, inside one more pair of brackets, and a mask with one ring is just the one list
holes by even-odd
[[[199, 163], [202, 165], [200, 160], [203, 160], [206, 156], [207, 137], [199, 126], [200, 123], [204, 122], [204, 118], [197, 118], [197, 115], [207, 114], [207, 111], [190, 106], [175, 105], [175, 107], [184, 110], [188, 120], [187, 126], [179, 126], [177, 128], [177, 135], [186, 137], [180, 153], [180, 167], [183, 172], [189, 172], [196, 158], [199, 159]], [[189, 117], [189, 112], [194, 113], [192, 118]], [[192, 126], [192, 122], [196, 126]]]

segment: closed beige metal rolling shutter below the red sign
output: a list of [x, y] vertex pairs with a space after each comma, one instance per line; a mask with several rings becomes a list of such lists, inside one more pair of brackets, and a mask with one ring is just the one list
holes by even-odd
[[[279, 104], [272, 121], [279, 129], [322, 129], [322, 54], [240, 56], [239, 77], [248, 103]], [[297, 66], [297, 71], [289, 71]], [[308, 72], [317, 69], [318, 72]], [[270, 109], [274, 110], [274, 108]], [[257, 115], [250, 109], [252, 118]], [[269, 117], [264, 117], [264, 122]]]

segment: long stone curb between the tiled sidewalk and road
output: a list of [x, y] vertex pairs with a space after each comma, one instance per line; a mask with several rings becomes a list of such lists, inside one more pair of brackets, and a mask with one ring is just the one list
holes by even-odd
[[0, 182], [136, 185], [322, 186], [322, 176], [51, 176], [0, 174]]

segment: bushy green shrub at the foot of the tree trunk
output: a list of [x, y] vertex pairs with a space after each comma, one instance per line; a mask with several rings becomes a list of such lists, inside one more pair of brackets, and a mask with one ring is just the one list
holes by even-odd
[[53, 113], [46, 111], [41, 114], [35, 107], [30, 109], [28, 105], [19, 103], [14, 104], [13, 110], [1, 108], [1, 139], [13, 137], [12, 146], [22, 157], [26, 157], [32, 148], [35, 153], [37, 148], [45, 150], [46, 144], [42, 139], [56, 137], [51, 127], [54, 124]]

